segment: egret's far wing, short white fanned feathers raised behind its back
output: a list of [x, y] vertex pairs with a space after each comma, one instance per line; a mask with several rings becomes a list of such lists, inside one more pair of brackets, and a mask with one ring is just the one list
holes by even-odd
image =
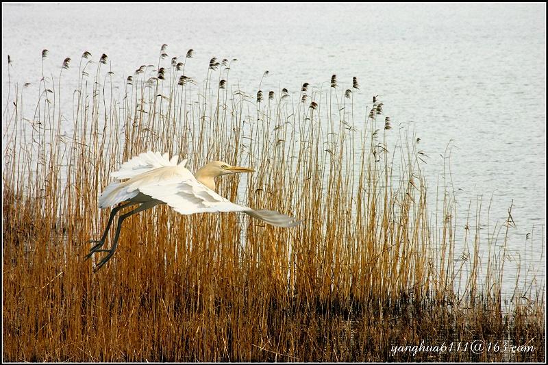
[[186, 159], [182, 160], [180, 164], [177, 165], [179, 160], [179, 155], [174, 155], [171, 159], [169, 158], [169, 153], [164, 153], [163, 155], [160, 152], [144, 152], [135, 156], [131, 160], [124, 162], [118, 171], [110, 173], [110, 176], [117, 177], [118, 179], [131, 179], [142, 173], [147, 173], [155, 168], [165, 167], [165, 166], [182, 166], [186, 165]]

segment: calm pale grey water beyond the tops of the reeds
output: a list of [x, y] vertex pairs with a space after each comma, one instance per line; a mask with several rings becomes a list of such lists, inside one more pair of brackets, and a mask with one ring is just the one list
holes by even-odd
[[77, 64], [84, 51], [106, 53], [120, 85], [158, 62], [163, 43], [170, 57], [195, 49], [186, 73], [197, 79], [213, 56], [238, 58], [231, 79], [251, 95], [266, 70], [262, 90], [328, 87], [334, 73], [349, 88], [356, 76], [356, 102], [380, 95], [395, 129], [408, 125], [421, 138], [431, 190], [451, 141], [460, 215], [476, 197], [493, 197], [490, 218], [501, 223], [513, 199], [510, 247], [522, 259], [527, 247], [543, 273], [545, 14], [545, 4], [3, 5], [2, 101], [7, 55], [12, 79], [38, 84], [42, 49], [55, 75], [66, 57]]

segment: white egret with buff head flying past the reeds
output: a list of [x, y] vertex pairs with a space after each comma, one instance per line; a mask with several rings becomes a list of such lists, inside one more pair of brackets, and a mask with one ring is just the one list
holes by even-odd
[[[114, 255], [123, 221], [133, 214], [158, 204], [167, 204], [181, 214], [243, 212], [277, 227], [295, 227], [301, 223], [295, 218], [274, 210], [253, 210], [245, 205], [232, 203], [215, 192], [215, 177], [234, 173], [252, 173], [251, 168], [230, 166], [225, 162], [214, 161], [192, 175], [185, 168], [187, 160], [182, 160], [180, 163], [177, 161], [177, 155], [170, 159], [168, 153], [162, 155], [159, 152], [148, 151], [125, 162], [119, 171], [110, 174], [112, 177], [127, 180], [112, 182], [99, 197], [101, 209], [111, 206], [114, 208], [110, 212], [107, 227], [101, 239], [90, 240], [95, 245], [86, 255], [86, 260], [94, 253], [108, 252], [108, 255], [97, 264], [97, 270]], [[120, 203], [123, 202], [127, 203], [121, 205]], [[138, 207], [119, 216], [112, 247], [102, 249], [116, 213], [123, 207], [136, 204]]]

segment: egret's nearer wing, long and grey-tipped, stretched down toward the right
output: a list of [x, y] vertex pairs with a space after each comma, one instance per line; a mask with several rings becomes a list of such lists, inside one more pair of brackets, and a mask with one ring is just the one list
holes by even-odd
[[252, 210], [245, 205], [232, 203], [199, 183], [182, 166], [158, 168], [149, 174], [149, 177], [144, 176], [145, 178], [128, 184], [129, 192], [136, 188], [143, 194], [163, 201], [181, 214], [243, 212], [277, 227], [295, 227], [301, 223], [273, 210]]

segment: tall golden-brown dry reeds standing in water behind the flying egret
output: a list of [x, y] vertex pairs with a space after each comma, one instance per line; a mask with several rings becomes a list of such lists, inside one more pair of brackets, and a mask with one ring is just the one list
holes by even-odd
[[[545, 360], [543, 281], [503, 296], [506, 235], [482, 241], [474, 218], [466, 252], [456, 249], [452, 187], [436, 187], [442, 204], [429, 212], [419, 139], [393, 129], [377, 97], [355, 108], [356, 78], [247, 94], [229, 77], [236, 60], [212, 58], [199, 81], [185, 74], [192, 50], [167, 52], [122, 84], [107, 55], [89, 52], [47, 77], [45, 50], [30, 112], [25, 86], [10, 83], [4, 361]], [[63, 73], [75, 67], [71, 90]], [[189, 158], [191, 171], [252, 166], [218, 181], [220, 194], [303, 223], [155, 207], [125, 222], [94, 273], [87, 242], [110, 213], [97, 197], [110, 172], [148, 150]], [[471, 351], [478, 342], [490, 351]], [[429, 351], [399, 349], [421, 344]]]

